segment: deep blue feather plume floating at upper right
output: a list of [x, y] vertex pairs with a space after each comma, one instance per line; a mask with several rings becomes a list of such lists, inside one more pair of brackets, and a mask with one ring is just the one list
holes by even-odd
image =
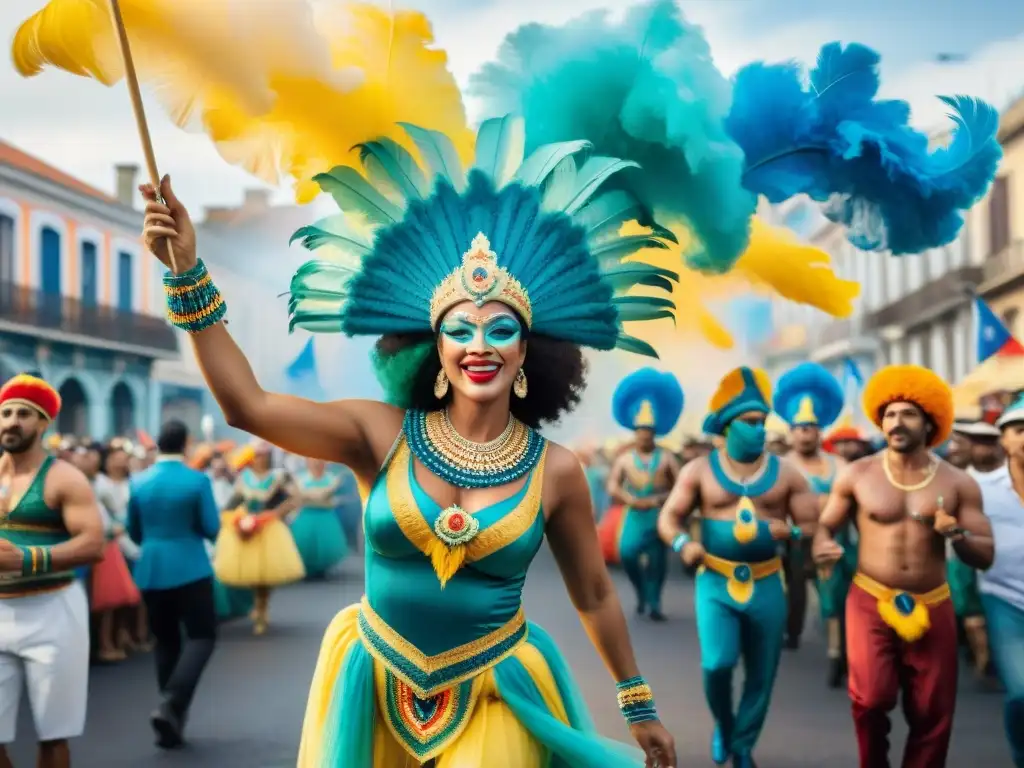
[[754, 63], [733, 87], [729, 134], [746, 157], [743, 184], [773, 203], [808, 195], [863, 250], [920, 253], [952, 242], [963, 212], [995, 176], [998, 115], [966, 96], [942, 97], [955, 124], [931, 152], [903, 101], [878, 100], [879, 55], [829, 43], [805, 88], [795, 63]]

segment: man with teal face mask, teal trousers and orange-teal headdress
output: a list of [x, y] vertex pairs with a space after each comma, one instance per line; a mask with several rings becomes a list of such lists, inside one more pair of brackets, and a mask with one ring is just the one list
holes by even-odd
[[[810, 536], [818, 516], [807, 480], [766, 452], [771, 384], [762, 371], [736, 369], [712, 397], [705, 431], [724, 445], [688, 463], [662, 508], [658, 534], [696, 579], [697, 636], [705, 694], [715, 731], [716, 765], [756, 768], [753, 752], [778, 671], [786, 600], [779, 548]], [[701, 513], [701, 543], [687, 517]], [[792, 524], [790, 519], [796, 524]], [[743, 662], [739, 707], [732, 707], [733, 670]]]

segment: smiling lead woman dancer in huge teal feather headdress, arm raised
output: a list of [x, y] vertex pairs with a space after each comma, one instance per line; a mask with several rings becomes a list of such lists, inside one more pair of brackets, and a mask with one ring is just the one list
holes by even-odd
[[547, 534], [646, 764], [675, 766], [601, 560], [583, 468], [537, 431], [579, 402], [582, 345], [654, 355], [622, 324], [672, 307], [621, 295], [640, 283], [664, 291], [675, 276], [620, 263], [660, 242], [621, 238], [638, 207], [624, 207], [625, 191], [599, 194], [629, 164], [595, 157], [577, 171], [583, 142], [523, 161], [521, 123], [496, 119], [481, 126], [467, 175], [446, 136], [407, 130], [436, 161], [429, 176], [388, 139], [362, 156], [390, 199], [348, 168], [318, 177], [346, 214], [386, 225], [373, 242], [340, 219], [301, 230], [350, 259], [304, 266], [291, 300], [293, 326], [381, 336], [375, 367], [398, 404], [263, 390], [220, 322], [223, 298], [196, 259], [187, 212], [167, 179], [166, 205], [142, 187], [145, 242], [166, 258], [169, 241], [180, 270], [165, 279], [171, 321], [191, 334], [228, 422], [345, 464], [373, 488], [367, 595], [324, 639], [299, 765], [643, 765], [593, 732], [564, 658], [524, 617], [526, 570]]

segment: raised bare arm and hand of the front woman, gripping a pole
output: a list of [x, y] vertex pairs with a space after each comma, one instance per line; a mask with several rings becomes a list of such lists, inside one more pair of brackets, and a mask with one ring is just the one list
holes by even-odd
[[[170, 266], [167, 243], [174, 249], [178, 272], [197, 264], [196, 230], [188, 212], [164, 177], [157, 201], [151, 184], [139, 187], [146, 201], [143, 239], [151, 253]], [[302, 397], [264, 390], [245, 354], [231, 339], [223, 323], [190, 334], [203, 377], [232, 427], [258, 435], [290, 453], [341, 462], [358, 474], [373, 477], [380, 459], [390, 447], [400, 425], [400, 413], [381, 402], [338, 400], [314, 402]], [[369, 438], [375, 431], [394, 434], [383, 438], [381, 450]]]

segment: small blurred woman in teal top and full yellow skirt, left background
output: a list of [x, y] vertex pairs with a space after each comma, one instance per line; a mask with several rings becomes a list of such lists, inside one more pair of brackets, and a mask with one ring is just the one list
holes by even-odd
[[305, 575], [302, 558], [284, 518], [295, 509], [291, 478], [270, 464], [270, 446], [255, 446], [252, 464], [239, 473], [220, 527], [213, 569], [226, 587], [253, 591], [253, 634], [266, 633], [270, 591]]

